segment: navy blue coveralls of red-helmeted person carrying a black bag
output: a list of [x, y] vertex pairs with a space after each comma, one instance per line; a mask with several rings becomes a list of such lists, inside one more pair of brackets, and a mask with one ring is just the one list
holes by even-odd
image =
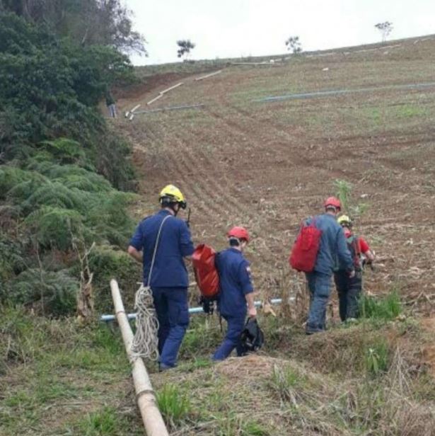
[[253, 292], [250, 280], [249, 262], [236, 248], [228, 248], [216, 256], [216, 268], [219, 272], [218, 308], [228, 323], [224, 342], [214, 352], [213, 360], [224, 360], [236, 348], [237, 355], [242, 354], [240, 335], [245, 328], [247, 313], [245, 295]]

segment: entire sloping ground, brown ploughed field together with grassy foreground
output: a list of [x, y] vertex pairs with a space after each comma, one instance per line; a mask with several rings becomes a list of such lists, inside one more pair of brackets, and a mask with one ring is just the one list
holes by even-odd
[[[205, 105], [115, 120], [134, 144], [135, 217], [156, 209], [163, 185], [179, 185], [195, 242], [220, 249], [229, 226], [247, 226], [257, 297], [298, 297], [277, 318], [260, 314], [259, 355], [211, 365], [219, 321], [197, 316], [177, 369], [147, 363], [171, 435], [435, 435], [435, 40], [388, 45], [231, 66], [204, 81], [175, 71], [118, 102], [146, 108], [181, 79], [149, 108]], [[425, 86], [403, 87], [415, 84]], [[376, 298], [355, 325], [340, 325], [332, 305], [330, 330], [307, 337], [303, 280], [286, 258], [337, 179], [352, 183], [356, 229], [380, 259], [366, 272]], [[134, 289], [122, 290], [131, 302]], [[143, 434], [116, 328], [11, 309], [3, 335], [1, 435]]]

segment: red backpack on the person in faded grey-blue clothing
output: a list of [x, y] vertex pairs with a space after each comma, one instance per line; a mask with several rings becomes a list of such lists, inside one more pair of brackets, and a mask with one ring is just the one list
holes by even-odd
[[298, 271], [311, 272], [320, 247], [322, 231], [315, 226], [315, 219], [310, 224], [301, 224], [301, 230], [291, 248], [289, 263], [291, 268]]

